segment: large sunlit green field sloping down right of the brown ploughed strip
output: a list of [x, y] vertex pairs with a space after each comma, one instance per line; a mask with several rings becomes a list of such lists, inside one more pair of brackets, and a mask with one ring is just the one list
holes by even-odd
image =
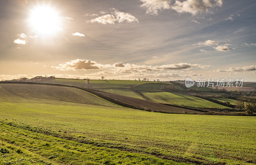
[[211, 101], [196, 98], [194, 96], [189, 96], [186, 94], [178, 92], [151, 92], [151, 91], [141, 91], [143, 95], [148, 97], [150, 101], [165, 104], [176, 104], [184, 106], [193, 107], [204, 107], [204, 108], [229, 108], [227, 106], [222, 106], [220, 104], [213, 103]]

